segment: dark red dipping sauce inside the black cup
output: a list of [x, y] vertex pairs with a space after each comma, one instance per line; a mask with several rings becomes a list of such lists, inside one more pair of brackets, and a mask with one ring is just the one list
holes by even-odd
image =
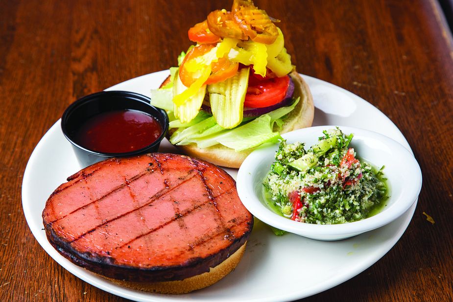
[[126, 153], [142, 149], [162, 134], [153, 117], [137, 110], [114, 110], [86, 120], [75, 133], [81, 146], [102, 153]]

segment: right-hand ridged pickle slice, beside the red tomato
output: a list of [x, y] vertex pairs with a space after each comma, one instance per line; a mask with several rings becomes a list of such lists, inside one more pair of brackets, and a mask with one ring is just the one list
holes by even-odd
[[243, 68], [223, 82], [208, 85], [211, 110], [221, 127], [232, 129], [242, 121], [248, 76], [249, 68]]

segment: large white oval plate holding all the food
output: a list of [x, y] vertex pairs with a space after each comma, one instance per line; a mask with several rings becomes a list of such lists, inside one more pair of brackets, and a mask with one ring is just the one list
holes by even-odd
[[[143, 75], [109, 90], [149, 96], [149, 90], [157, 88], [167, 75], [168, 71]], [[316, 107], [313, 125], [374, 130], [410, 150], [398, 128], [371, 104], [327, 82], [308, 76], [304, 79], [310, 86]], [[171, 152], [175, 149], [165, 140], [160, 150]], [[80, 168], [58, 120], [39, 141], [25, 169], [22, 205], [28, 226], [44, 250], [73, 275], [102, 290], [135, 301], [276, 302], [308, 297], [351, 279], [379, 260], [401, 237], [417, 204], [415, 202], [400, 218], [382, 228], [335, 242], [316, 241], [295, 234], [277, 237], [258, 222], [241, 262], [227, 277], [191, 294], [151, 294], [97, 277], [72, 264], [49, 244], [41, 217], [46, 200], [57, 186]], [[227, 171], [236, 178], [237, 170]], [[298, 273], [298, 268], [301, 273]], [[278, 284], [283, 286], [283, 290]]]

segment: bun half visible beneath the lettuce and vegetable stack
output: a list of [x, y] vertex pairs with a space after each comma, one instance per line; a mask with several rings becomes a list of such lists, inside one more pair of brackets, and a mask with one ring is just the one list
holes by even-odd
[[[291, 72], [289, 75], [294, 82], [294, 97], [300, 96], [300, 100], [296, 105], [296, 108], [285, 116], [284, 124], [280, 130], [281, 134], [296, 129], [310, 127], [314, 115], [313, 97], [307, 83], [296, 71]], [[163, 85], [165, 85], [166, 82], [167, 80]], [[174, 131], [176, 131], [176, 129], [170, 129], [170, 131], [168, 131], [168, 136]], [[196, 144], [193, 143], [183, 146], [176, 145], [176, 147], [189, 156], [229, 168], [239, 168], [245, 158], [253, 151], [253, 149], [251, 149], [236, 152], [221, 144], [203, 149], [198, 148]]]

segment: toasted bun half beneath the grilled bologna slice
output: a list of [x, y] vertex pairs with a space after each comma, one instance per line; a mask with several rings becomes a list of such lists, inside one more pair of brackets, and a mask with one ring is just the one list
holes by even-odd
[[[107, 278], [114, 283], [129, 288], [160, 293], [160, 294], [187, 294], [191, 291], [213, 285], [218, 280], [228, 275], [238, 265], [242, 255], [244, 255], [245, 242], [233, 255], [226, 258], [219, 265], [211, 268], [209, 272], [196, 275], [184, 280], [165, 281], [165, 282], [132, 282], [118, 279]], [[106, 278], [106, 277], [104, 277]]]

